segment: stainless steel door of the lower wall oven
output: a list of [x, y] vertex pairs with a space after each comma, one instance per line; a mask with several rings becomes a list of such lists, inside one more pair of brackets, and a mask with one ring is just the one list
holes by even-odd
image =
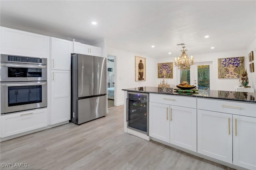
[[[42, 102], [8, 106], [8, 87], [42, 86]], [[47, 82], [1, 82], [1, 114], [47, 107]]]

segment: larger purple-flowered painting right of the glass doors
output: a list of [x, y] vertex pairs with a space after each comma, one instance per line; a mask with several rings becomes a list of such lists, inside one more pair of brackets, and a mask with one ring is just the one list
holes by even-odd
[[240, 78], [244, 72], [244, 57], [218, 59], [218, 78]]

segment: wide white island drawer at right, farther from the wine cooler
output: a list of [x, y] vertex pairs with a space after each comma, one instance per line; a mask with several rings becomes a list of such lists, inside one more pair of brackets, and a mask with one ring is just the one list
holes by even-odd
[[256, 117], [256, 104], [226, 100], [197, 99], [197, 108], [222, 113]]

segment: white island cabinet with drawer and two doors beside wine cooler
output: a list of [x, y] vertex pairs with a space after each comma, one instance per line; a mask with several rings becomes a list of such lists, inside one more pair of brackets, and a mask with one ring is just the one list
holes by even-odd
[[149, 136], [196, 152], [196, 98], [149, 95]]

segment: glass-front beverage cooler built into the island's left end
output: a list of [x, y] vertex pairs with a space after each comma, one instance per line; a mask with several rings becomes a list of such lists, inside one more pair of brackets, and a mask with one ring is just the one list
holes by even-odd
[[127, 92], [127, 127], [148, 135], [148, 93]]

